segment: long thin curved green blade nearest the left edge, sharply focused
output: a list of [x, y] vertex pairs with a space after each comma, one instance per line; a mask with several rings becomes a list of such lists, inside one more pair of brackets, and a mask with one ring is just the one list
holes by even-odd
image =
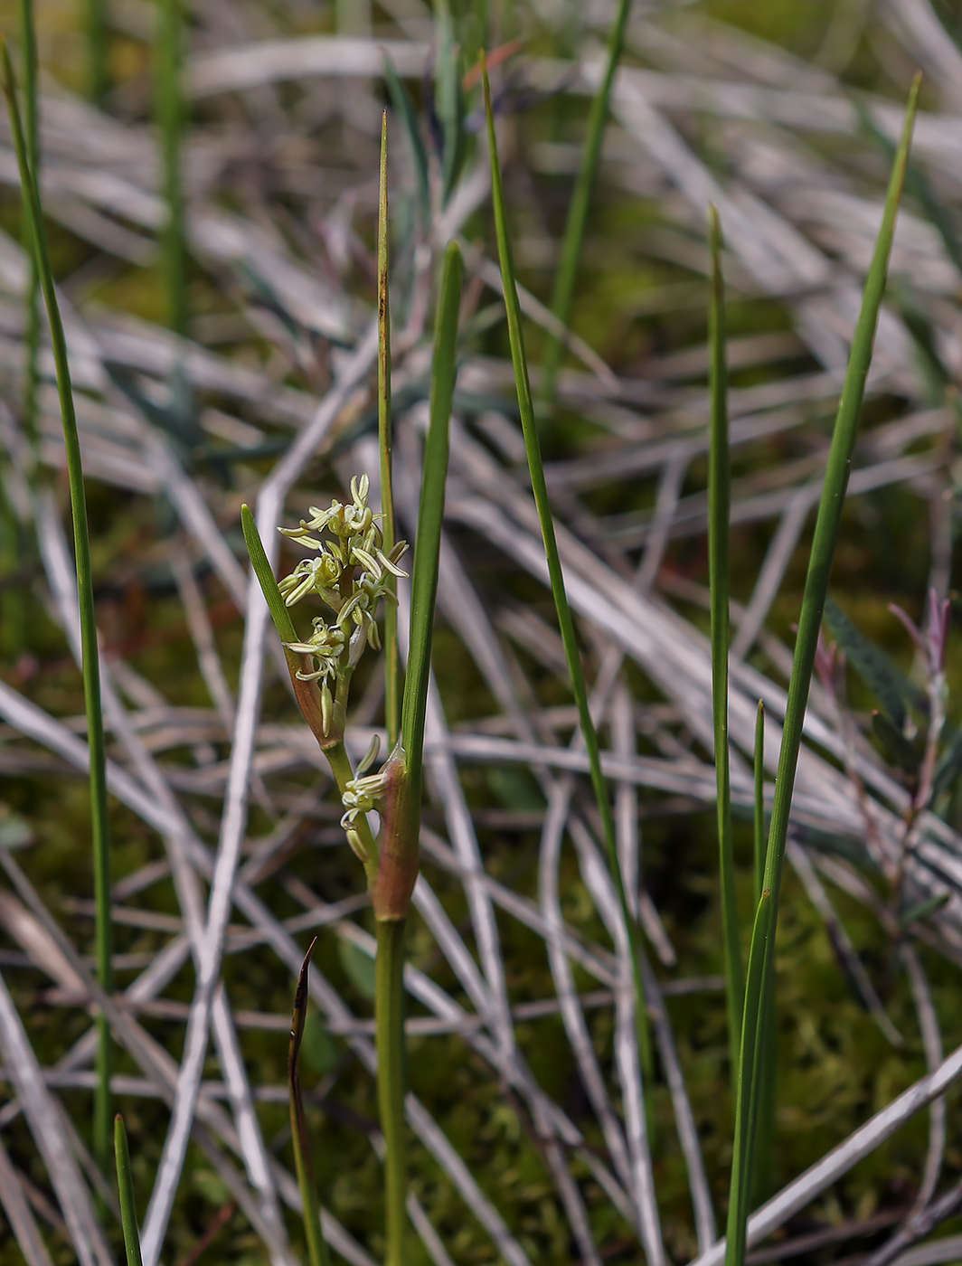
[[[113, 952], [114, 938], [110, 923], [110, 824], [106, 803], [106, 749], [104, 746], [104, 715], [100, 706], [100, 660], [97, 630], [94, 613], [94, 580], [90, 567], [90, 534], [87, 529], [87, 503], [84, 491], [84, 466], [80, 457], [77, 418], [73, 409], [73, 389], [70, 379], [67, 341], [63, 335], [57, 291], [53, 284], [47, 234], [41, 211], [41, 195], [35, 173], [30, 167], [20, 109], [16, 101], [16, 81], [10, 63], [6, 41], [0, 44], [4, 68], [4, 91], [10, 111], [10, 125], [20, 170], [20, 192], [30, 223], [41, 290], [47, 306], [51, 328], [53, 362], [57, 368], [63, 443], [67, 452], [67, 480], [73, 519], [73, 553], [77, 568], [77, 594], [80, 599], [80, 644], [84, 672], [84, 701], [87, 718], [87, 747], [90, 749], [90, 825], [94, 852], [94, 901], [97, 980], [103, 989], [114, 991]], [[97, 1017], [96, 1089], [94, 1091], [94, 1156], [101, 1172], [108, 1171], [110, 1158], [110, 1029], [104, 1015]]]

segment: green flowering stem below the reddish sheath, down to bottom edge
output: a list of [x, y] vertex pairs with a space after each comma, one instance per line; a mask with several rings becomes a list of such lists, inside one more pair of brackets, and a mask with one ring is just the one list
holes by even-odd
[[385, 1266], [408, 1266], [408, 1136], [404, 1122], [404, 929], [405, 919], [377, 922], [375, 1014], [377, 1103], [385, 1142]]

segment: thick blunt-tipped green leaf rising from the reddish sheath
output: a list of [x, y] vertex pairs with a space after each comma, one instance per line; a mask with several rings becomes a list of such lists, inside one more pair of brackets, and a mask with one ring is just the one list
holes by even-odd
[[411, 798], [415, 804], [419, 804], [420, 794], [424, 714], [428, 705], [440, 527], [444, 518], [444, 484], [448, 475], [448, 429], [457, 376], [456, 356], [462, 276], [461, 251], [456, 242], [449, 242], [444, 252], [438, 310], [434, 320], [430, 423], [424, 446], [418, 537], [414, 542], [411, 633], [401, 713], [401, 742]]

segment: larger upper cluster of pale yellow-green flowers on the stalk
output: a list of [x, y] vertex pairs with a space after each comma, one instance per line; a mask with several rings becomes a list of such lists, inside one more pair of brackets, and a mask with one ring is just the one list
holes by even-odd
[[[377, 603], [384, 598], [396, 605], [391, 577], [406, 576], [397, 566], [408, 549], [405, 541], [385, 553], [384, 538], [377, 525], [380, 514], [367, 504], [367, 475], [351, 480], [351, 501], [332, 501], [327, 510], [310, 508], [310, 518], [297, 528], [281, 528], [284, 536], [297, 541], [314, 557], [304, 558], [290, 576], [280, 581], [285, 604], [294, 606], [308, 594], [318, 594], [335, 613], [333, 622], [323, 617], [314, 620], [314, 632], [305, 642], [287, 642], [290, 651], [311, 656], [314, 668], [297, 672], [301, 681], [318, 681], [324, 733], [330, 728], [333, 695], [330, 680], [353, 671], [365, 646], [377, 651], [381, 638], [375, 619]], [[318, 533], [327, 532], [329, 538]]]

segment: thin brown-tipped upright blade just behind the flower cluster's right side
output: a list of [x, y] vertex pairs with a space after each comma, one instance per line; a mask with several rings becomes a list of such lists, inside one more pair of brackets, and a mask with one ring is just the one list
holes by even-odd
[[[387, 110], [381, 116], [381, 176], [377, 200], [377, 446], [381, 456], [381, 532], [384, 549], [395, 543], [391, 481], [391, 305], [387, 287]], [[396, 589], [396, 585], [395, 585]], [[401, 732], [401, 661], [397, 652], [397, 608], [384, 604], [385, 728], [392, 751]]]

